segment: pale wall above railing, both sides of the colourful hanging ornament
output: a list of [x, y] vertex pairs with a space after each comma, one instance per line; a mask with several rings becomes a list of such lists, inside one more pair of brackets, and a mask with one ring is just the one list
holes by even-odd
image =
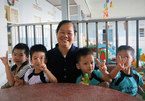
[[[86, 0], [92, 11], [92, 18], [103, 18], [104, 3], [106, 0]], [[109, 17], [145, 16], [145, 0], [112, 0], [114, 7], [109, 7]], [[91, 3], [92, 2], [92, 3]], [[110, 5], [109, 5], [110, 6]], [[93, 8], [94, 7], [94, 8]]]

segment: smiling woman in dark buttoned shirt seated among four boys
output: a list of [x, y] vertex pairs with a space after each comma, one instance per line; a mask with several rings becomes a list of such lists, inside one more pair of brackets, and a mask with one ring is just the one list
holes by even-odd
[[47, 52], [47, 67], [55, 75], [58, 82], [75, 83], [80, 71], [75, 66], [77, 47], [73, 45], [76, 33], [75, 26], [69, 20], [59, 23], [55, 48]]

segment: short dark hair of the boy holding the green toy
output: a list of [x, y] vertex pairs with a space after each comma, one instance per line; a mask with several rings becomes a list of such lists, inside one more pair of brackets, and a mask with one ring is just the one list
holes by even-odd
[[93, 55], [93, 52], [90, 48], [80, 48], [76, 53], [76, 63], [79, 63], [80, 58], [87, 55]]

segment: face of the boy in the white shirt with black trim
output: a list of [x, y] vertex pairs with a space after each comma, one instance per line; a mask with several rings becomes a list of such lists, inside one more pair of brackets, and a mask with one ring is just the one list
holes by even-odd
[[31, 64], [35, 69], [40, 70], [41, 65], [46, 62], [44, 52], [34, 52], [31, 59]]

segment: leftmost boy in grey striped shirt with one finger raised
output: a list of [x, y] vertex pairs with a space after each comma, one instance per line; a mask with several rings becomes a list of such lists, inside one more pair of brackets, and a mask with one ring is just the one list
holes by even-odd
[[6, 52], [6, 57], [0, 58], [5, 65], [8, 80], [1, 88], [9, 88], [17, 85], [18, 83], [15, 81], [15, 78], [23, 79], [25, 72], [30, 68], [28, 62], [29, 48], [26, 44], [18, 43], [12, 50], [12, 58], [15, 65], [11, 69], [8, 65], [8, 52]]

